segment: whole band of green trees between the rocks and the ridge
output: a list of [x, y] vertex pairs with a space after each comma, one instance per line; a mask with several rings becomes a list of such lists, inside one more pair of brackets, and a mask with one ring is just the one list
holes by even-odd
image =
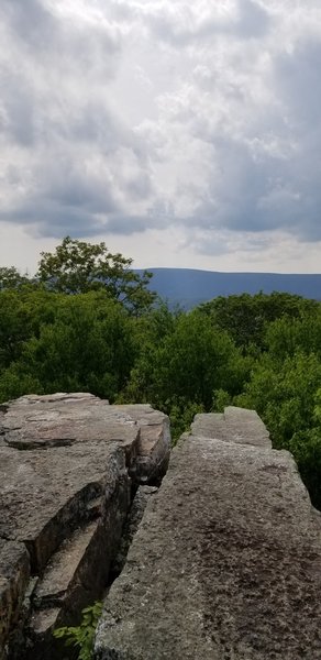
[[196, 413], [255, 409], [321, 508], [321, 304], [285, 293], [170, 310], [132, 261], [69, 237], [34, 277], [0, 268], [0, 403], [82, 391]]

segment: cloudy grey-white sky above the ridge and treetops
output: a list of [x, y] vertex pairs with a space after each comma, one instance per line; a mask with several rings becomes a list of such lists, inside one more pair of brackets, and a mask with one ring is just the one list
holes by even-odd
[[1, 0], [0, 266], [321, 272], [320, 0]]

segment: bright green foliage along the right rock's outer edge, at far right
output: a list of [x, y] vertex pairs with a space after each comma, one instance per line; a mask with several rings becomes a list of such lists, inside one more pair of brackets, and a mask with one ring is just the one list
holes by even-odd
[[[236, 405], [254, 408], [272, 433], [274, 447], [288, 449], [298, 462], [312, 502], [321, 507], [321, 360], [297, 351], [283, 362], [262, 359]], [[317, 405], [316, 405], [317, 404]]]

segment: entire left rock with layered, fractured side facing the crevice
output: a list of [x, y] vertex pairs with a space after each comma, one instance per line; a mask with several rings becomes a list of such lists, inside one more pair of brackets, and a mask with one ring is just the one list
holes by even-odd
[[101, 596], [133, 486], [159, 482], [169, 442], [148, 405], [56, 394], [0, 407], [0, 660], [63, 657], [52, 630]]

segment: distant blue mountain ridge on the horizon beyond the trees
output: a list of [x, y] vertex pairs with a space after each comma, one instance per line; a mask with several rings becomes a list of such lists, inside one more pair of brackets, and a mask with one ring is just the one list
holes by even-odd
[[[321, 300], [321, 273], [219, 273], [192, 268], [147, 268], [153, 273], [151, 289], [166, 298], [170, 307], [191, 309], [218, 296], [286, 292]], [[143, 273], [143, 271], [136, 271]]]

